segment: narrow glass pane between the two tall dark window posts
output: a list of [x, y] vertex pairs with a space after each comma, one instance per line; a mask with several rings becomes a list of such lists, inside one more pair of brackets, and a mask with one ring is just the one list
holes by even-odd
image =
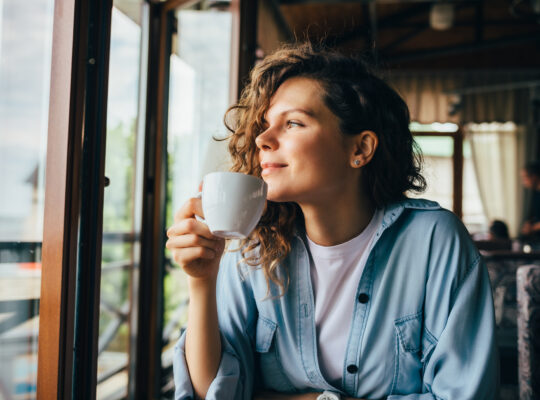
[[142, 0], [115, 1], [112, 13], [103, 246], [99, 316], [98, 399], [125, 398], [128, 388], [133, 274], [138, 264], [138, 135]]

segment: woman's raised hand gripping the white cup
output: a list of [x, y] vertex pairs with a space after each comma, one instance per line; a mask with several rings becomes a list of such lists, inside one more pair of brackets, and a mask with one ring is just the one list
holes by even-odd
[[215, 281], [225, 240], [212, 235], [195, 215], [204, 217], [201, 199], [197, 197], [189, 199], [175, 214], [174, 224], [167, 230], [166, 247], [191, 278]]

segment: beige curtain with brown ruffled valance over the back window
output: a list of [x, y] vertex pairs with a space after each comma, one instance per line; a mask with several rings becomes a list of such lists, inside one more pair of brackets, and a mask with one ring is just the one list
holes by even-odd
[[393, 71], [386, 77], [408, 104], [411, 121], [466, 127], [486, 217], [506, 221], [512, 235], [526, 203], [519, 169], [538, 157], [533, 107], [540, 88], [532, 83], [539, 80], [538, 70]]

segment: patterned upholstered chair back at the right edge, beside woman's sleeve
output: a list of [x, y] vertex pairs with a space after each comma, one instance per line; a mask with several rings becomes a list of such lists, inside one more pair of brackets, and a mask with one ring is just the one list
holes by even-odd
[[540, 265], [517, 270], [519, 398], [540, 399]]

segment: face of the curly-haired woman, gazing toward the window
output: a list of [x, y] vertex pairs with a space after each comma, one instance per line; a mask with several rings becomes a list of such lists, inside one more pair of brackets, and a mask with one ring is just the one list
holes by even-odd
[[272, 97], [266, 130], [255, 141], [268, 200], [323, 202], [358, 184], [358, 171], [351, 167], [352, 139], [340, 132], [322, 94], [317, 81], [296, 77]]

